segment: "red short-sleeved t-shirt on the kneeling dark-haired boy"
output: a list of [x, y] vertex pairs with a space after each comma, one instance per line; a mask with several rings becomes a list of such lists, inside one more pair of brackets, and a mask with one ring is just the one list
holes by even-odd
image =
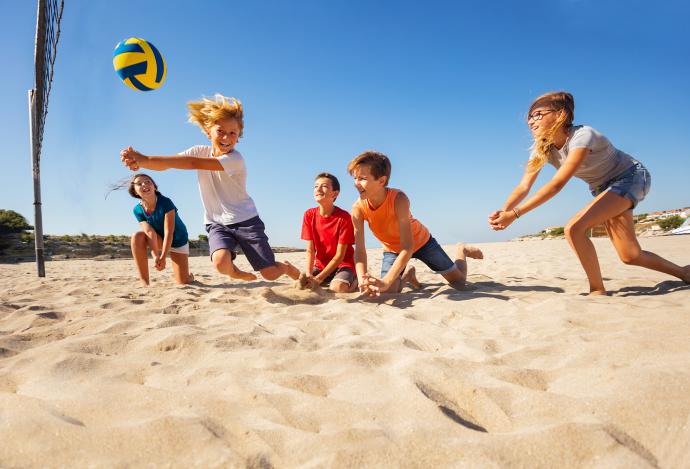
[[346, 244], [345, 257], [338, 267], [355, 268], [355, 230], [352, 227], [352, 218], [345, 210], [334, 207], [333, 213], [328, 217], [319, 214], [319, 208], [310, 208], [304, 212], [302, 221], [302, 239], [314, 242], [315, 266], [323, 270], [335, 257], [338, 244]]

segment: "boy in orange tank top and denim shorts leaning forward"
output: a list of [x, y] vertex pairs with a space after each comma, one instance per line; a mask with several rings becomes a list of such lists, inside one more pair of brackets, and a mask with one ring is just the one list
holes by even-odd
[[[473, 246], [458, 243], [455, 261], [441, 248], [429, 230], [410, 213], [410, 201], [404, 192], [388, 187], [391, 163], [388, 157], [367, 151], [350, 161], [347, 171], [354, 178], [359, 200], [352, 205], [352, 224], [355, 229], [355, 270], [359, 289], [368, 295], [382, 292], [397, 293], [405, 282], [415, 288], [421, 285], [414, 267], [403, 275], [411, 258], [424, 262], [441, 274], [456, 289], [465, 286], [467, 257], [482, 259], [482, 252]], [[367, 251], [364, 244], [364, 221], [383, 244], [381, 278], [367, 271]]]

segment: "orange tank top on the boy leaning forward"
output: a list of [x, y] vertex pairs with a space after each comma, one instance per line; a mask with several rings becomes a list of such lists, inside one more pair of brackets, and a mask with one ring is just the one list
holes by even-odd
[[[357, 205], [362, 216], [369, 224], [374, 236], [383, 244], [384, 251], [400, 252], [400, 227], [395, 217], [395, 198], [400, 191], [388, 189], [386, 199], [380, 207], [374, 209], [368, 200], [359, 199]], [[410, 213], [410, 225], [412, 227], [412, 252], [424, 246], [431, 234], [419, 220]]]

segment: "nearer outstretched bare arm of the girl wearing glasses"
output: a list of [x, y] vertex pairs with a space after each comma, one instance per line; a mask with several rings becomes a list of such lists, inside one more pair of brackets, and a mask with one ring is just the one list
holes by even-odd
[[[554, 174], [551, 180], [540, 187], [539, 190], [537, 190], [537, 192], [535, 192], [522, 205], [518, 206], [520, 201], [524, 199], [524, 195], [521, 199], [516, 198], [514, 200], [511, 200], [509, 197], [508, 200], [506, 200], [506, 205], [504, 205], [503, 210], [499, 211], [495, 217], [490, 217], [489, 223], [491, 224], [491, 227], [494, 230], [503, 230], [513, 223], [518, 216], [522, 216], [534, 210], [558, 194], [561, 189], [565, 187], [570, 178], [573, 177], [575, 171], [577, 171], [577, 169], [580, 167], [588, 152], [589, 149], [587, 148], [573, 148], [570, 150], [568, 157], [563, 162], [563, 165], [558, 168], [558, 171], [556, 171], [556, 174]], [[523, 177], [523, 180], [525, 177]], [[534, 179], [536, 179], [536, 174], [534, 175]], [[532, 183], [534, 183], [534, 180], [532, 180]], [[529, 192], [529, 188], [527, 189], [527, 192]], [[511, 196], [512, 195], [513, 194], [511, 194]], [[512, 206], [509, 204], [509, 202], [512, 202]]]

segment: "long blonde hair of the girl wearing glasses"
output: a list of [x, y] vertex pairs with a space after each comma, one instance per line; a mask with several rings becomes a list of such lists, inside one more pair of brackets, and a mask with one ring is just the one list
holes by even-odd
[[562, 128], [568, 129], [573, 125], [575, 117], [575, 100], [573, 95], [566, 91], [556, 91], [546, 93], [534, 100], [527, 112], [527, 118], [532, 115], [532, 111], [540, 107], [549, 107], [554, 111], [564, 111], [559, 113], [554, 124], [537, 135], [532, 144], [532, 154], [530, 155], [527, 167], [531, 171], [538, 171], [549, 160], [549, 152], [553, 147], [553, 139]]

